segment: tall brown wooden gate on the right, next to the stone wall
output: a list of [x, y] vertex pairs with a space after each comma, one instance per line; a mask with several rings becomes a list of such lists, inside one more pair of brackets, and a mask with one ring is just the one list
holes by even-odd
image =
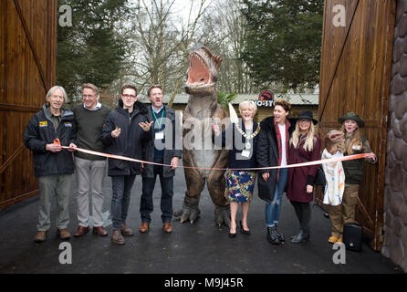
[[[325, 0], [319, 81], [319, 132], [339, 129], [348, 111], [379, 163], [365, 163], [356, 220], [374, 250], [381, 249], [386, 132], [395, 0]], [[343, 26], [344, 25], [344, 26]], [[322, 192], [316, 195], [322, 204]]]

